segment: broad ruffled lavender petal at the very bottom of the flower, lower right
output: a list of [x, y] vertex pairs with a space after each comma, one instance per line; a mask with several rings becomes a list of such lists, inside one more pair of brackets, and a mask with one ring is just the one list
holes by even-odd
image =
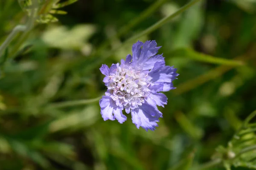
[[146, 131], [154, 131], [159, 122], [157, 117], [153, 117], [148, 113], [146, 109], [147, 106], [142, 105], [139, 108], [131, 110], [132, 122], [136, 125], [137, 128], [143, 127]]

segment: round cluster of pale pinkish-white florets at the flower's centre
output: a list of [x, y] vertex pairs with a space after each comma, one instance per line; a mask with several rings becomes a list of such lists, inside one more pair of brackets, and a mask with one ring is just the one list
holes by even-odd
[[137, 108], [149, 91], [149, 77], [142, 70], [118, 66], [109, 76], [108, 92], [117, 106]]

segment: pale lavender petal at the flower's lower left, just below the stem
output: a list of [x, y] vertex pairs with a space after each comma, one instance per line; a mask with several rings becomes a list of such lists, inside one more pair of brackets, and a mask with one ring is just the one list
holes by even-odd
[[110, 96], [102, 96], [102, 99], [99, 100], [100, 113], [104, 121], [106, 120], [115, 120], [113, 116], [114, 101]]

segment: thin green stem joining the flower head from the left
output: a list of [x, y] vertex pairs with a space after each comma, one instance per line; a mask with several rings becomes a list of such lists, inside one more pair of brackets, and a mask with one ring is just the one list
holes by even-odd
[[101, 98], [102, 98], [102, 96], [99, 96], [94, 99], [82, 99], [82, 100], [73, 100], [73, 101], [52, 103], [48, 107], [49, 108], [66, 108], [66, 107], [70, 107], [70, 106], [87, 105], [89, 103], [97, 102]]

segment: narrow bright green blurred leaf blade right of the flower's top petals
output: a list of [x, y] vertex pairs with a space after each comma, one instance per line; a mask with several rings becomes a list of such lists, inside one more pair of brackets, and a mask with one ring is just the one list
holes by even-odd
[[224, 59], [213, 57], [207, 54], [199, 53], [193, 51], [189, 48], [179, 48], [172, 52], [170, 56], [173, 57], [187, 57], [192, 60], [200, 61], [200, 62], [207, 62], [211, 64], [221, 64], [221, 65], [232, 65], [232, 66], [241, 66], [244, 65], [244, 62], [232, 59]]

